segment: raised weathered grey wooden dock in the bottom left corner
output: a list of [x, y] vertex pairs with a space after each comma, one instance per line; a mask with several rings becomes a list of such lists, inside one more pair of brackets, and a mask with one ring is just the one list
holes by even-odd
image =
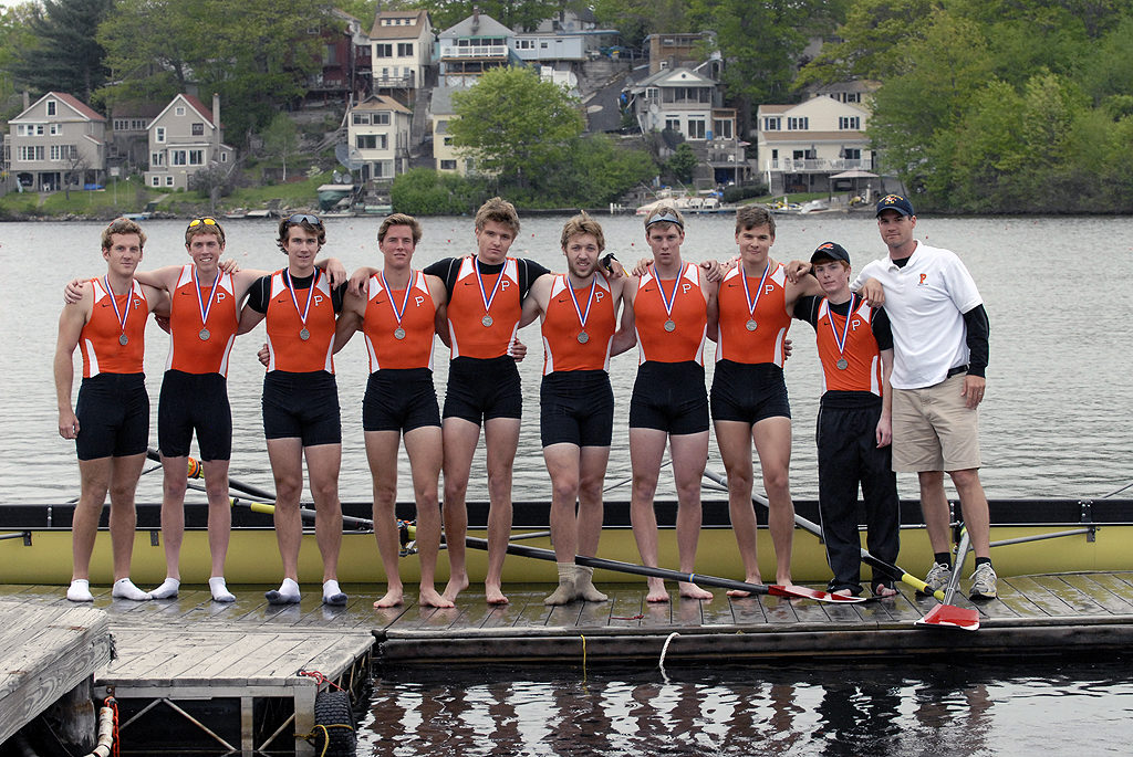
[[107, 613], [0, 597], [0, 745], [105, 666], [110, 656]]

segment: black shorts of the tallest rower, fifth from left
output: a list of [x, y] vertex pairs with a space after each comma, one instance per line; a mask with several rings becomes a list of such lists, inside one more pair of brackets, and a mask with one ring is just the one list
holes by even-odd
[[444, 418], [462, 418], [479, 425], [492, 418], [521, 418], [523, 389], [516, 359], [510, 355], [457, 358], [449, 363]]

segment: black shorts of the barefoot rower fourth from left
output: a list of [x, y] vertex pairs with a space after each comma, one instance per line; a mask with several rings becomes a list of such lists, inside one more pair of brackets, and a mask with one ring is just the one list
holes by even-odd
[[441, 411], [427, 368], [383, 368], [369, 375], [361, 402], [365, 431], [412, 431], [441, 425]]

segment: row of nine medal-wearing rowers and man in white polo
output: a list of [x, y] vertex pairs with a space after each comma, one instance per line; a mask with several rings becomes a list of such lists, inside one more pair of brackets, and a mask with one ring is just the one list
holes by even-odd
[[[377, 233], [382, 267], [361, 268], [349, 279], [338, 260], [316, 261], [326, 231], [315, 215], [300, 213], [280, 222], [276, 243], [288, 263], [274, 273], [222, 263], [224, 231], [212, 217], [194, 218], [185, 231], [190, 264], [139, 272], [145, 233], [137, 223], [119, 218], [102, 233], [105, 275], [68, 286], [59, 322], [59, 433], [76, 442], [82, 480], [67, 597], [93, 599], [88, 569], [108, 491], [112, 595], [136, 601], [177, 595], [186, 471], [195, 433], [208, 499], [208, 584], [215, 601], [235, 599], [224, 582], [232, 448], [225, 376], [235, 337], [263, 320], [263, 424], [283, 569], [282, 583], [266, 593], [267, 601], [287, 604], [300, 599], [299, 498], [306, 459], [323, 560], [322, 599], [330, 605], [347, 602], [338, 583], [341, 421], [333, 355], [360, 330], [370, 368], [363, 428], [373, 475], [374, 531], [387, 577], [387, 591], [375, 607], [403, 602], [394, 515], [402, 439], [417, 508], [418, 602], [453, 607], [468, 587], [466, 496], [482, 429], [491, 502], [484, 592], [488, 603], [506, 603], [502, 570], [523, 401], [516, 362], [526, 353], [517, 335], [536, 318], [544, 346], [540, 435], [552, 482], [551, 533], [559, 570], [547, 604], [606, 599], [593, 583], [593, 568], [577, 565], [574, 558], [598, 551], [613, 435], [610, 361], [634, 345], [639, 365], [629, 412], [630, 516], [641, 562], [657, 567], [654, 496], [667, 446], [679, 502], [680, 570], [695, 570], [710, 416], [727, 473], [744, 580], [761, 583], [753, 447], [769, 505], [775, 583], [791, 584], [791, 410], [783, 364], [790, 354], [792, 318], [815, 327], [823, 367], [817, 440], [821, 526], [833, 574], [829, 591], [862, 592], [859, 487], [870, 552], [885, 562], [896, 560], [894, 471], [919, 475], [935, 552], [927, 583], [930, 590], [944, 586], [952, 573], [944, 490], [948, 472], [977, 556], [971, 593], [995, 596], [988, 506], [978, 474], [977, 408], [988, 362], [987, 315], [960, 259], [913, 239], [917, 218], [906, 198], [883, 198], [877, 221], [889, 255], [866, 266], [851, 285], [850, 256], [835, 242], [819, 244], [809, 261], [784, 265], [773, 259], [775, 220], [758, 205], [736, 212], [738, 256], [724, 264], [683, 260], [684, 218], [675, 207], [654, 208], [645, 217], [651, 259], [637, 263], [632, 272], [604, 255], [600, 224], [585, 214], [574, 216], [562, 230], [566, 270], [559, 274], [509, 256], [520, 222], [516, 208], [499, 197], [476, 214], [475, 255], [445, 258], [423, 269], [412, 265], [420, 224], [393, 214]], [[145, 592], [131, 583], [129, 570], [135, 488], [148, 441], [143, 353], [150, 312], [171, 342], [157, 411], [167, 578]], [[432, 371], [436, 336], [451, 350], [443, 412]], [[710, 395], [705, 387], [707, 339], [716, 342]], [[76, 346], [82, 346], [83, 381], [73, 408]], [[448, 584], [438, 590], [442, 521], [450, 570]], [[898, 576], [875, 569], [871, 592], [892, 596], [894, 578]], [[679, 592], [695, 600], [713, 596], [693, 583], [679, 583]], [[648, 579], [646, 599], [668, 601], [661, 578]]]

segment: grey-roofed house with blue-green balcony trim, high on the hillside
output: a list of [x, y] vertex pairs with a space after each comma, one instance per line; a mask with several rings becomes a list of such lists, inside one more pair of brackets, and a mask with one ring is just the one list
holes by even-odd
[[438, 84], [467, 87], [480, 75], [501, 66], [522, 66], [514, 51], [516, 33], [479, 9], [465, 20], [441, 32], [437, 59]]

